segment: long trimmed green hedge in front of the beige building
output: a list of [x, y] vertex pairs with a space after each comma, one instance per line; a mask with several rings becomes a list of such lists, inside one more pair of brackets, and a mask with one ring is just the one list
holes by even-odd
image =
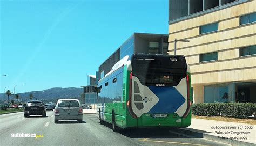
[[201, 116], [228, 116], [248, 118], [255, 113], [253, 103], [204, 103], [192, 104], [192, 114]]

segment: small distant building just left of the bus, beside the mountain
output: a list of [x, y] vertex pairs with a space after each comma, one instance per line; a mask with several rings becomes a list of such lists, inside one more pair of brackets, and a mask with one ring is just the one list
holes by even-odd
[[[96, 71], [97, 74], [97, 71]], [[80, 103], [81, 104], [95, 104], [97, 101], [97, 93], [95, 93], [96, 84], [96, 76], [95, 75], [87, 75], [87, 86], [82, 86], [84, 89], [84, 93], [81, 93]]]

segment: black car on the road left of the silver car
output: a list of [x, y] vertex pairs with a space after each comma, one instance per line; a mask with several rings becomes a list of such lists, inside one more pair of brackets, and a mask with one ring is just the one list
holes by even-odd
[[24, 108], [24, 117], [29, 117], [30, 115], [42, 115], [46, 116], [46, 107], [43, 101], [33, 100], [28, 101]]

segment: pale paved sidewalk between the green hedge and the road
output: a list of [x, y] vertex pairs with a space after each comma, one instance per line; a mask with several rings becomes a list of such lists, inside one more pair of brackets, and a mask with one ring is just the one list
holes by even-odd
[[255, 125], [192, 118], [191, 126], [180, 129], [195, 136], [232, 145], [256, 144]]

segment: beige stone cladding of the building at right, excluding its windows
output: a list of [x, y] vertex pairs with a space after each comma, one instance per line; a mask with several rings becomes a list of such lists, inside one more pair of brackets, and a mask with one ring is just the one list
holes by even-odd
[[[169, 25], [169, 54], [185, 55], [191, 68], [194, 103], [203, 103], [204, 85], [232, 81], [256, 83], [256, 55], [240, 57], [240, 47], [256, 45], [256, 23], [240, 25], [240, 16], [256, 12], [256, 1]], [[202, 25], [218, 22], [218, 31], [199, 34]], [[200, 54], [218, 52], [218, 60], [199, 62]]]

